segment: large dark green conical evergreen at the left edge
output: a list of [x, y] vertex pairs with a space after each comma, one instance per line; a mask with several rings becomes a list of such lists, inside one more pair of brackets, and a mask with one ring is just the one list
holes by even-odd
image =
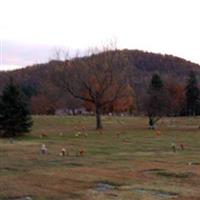
[[0, 134], [15, 137], [30, 131], [32, 120], [19, 86], [12, 79], [5, 86], [0, 99]]

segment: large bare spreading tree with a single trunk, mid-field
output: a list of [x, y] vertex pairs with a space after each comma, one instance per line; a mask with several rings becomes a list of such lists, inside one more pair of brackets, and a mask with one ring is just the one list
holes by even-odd
[[106, 50], [66, 62], [58, 77], [63, 88], [73, 97], [95, 106], [97, 129], [103, 127], [102, 108], [125, 95], [127, 65], [123, 51]]

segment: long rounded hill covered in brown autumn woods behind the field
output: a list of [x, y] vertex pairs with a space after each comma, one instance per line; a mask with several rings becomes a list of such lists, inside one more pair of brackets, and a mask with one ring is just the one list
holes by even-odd
[[[23, 92], [30, 98], [31, 113], [33, 114], [54, 114], [57, 110], [63, 108], [68, 108], [72, 112], [81, 107], [90, 108], [90, 103], [75, 99], [70, 93], [63, 92], [63, 87], [57, 83], [55, 77], [62, 72], [67, 73], [67, 68], [72, 65], [69, 64], [72, 63], [72, 60], [73, 65], [76, 62], [82, 63], [82, 65], [83, 63], [87, 65], [86, 62], [88, 62], [88, 65], [91, 65], [91, 62], [99, 62], [99, 57], [104, 57], [104, 60], [106, 57], [110, 59], [111, 54], [114, 54], [114, 52], [116, 54], [120, 52], [117, 59], [119, 62], [117, 60], [112, 61], [115, 69], [120, 68], [120, 62], [126, 63], [125, 68], [128, 68], [124, 70], [124, 73], [126, 73], [125, 79], [129, 83], [128, 90], [131, 89], [133, 94], [133, 98], [129, 96], [128, 104], [131, 104], [132, 100], [134, 101], [134, 105], [137, 107], [137, 109], [134, 108], [134, 112], [137, 112], [137, 114], [145, 112], [144, 97], [154, 73], [159, 72], [165, 85], [171, 88], [171, 94], [177, 93], [176, 90], [185, 87], [188, 73], [191, 70], [196, 73], [197, 79], [200, 77], [199, 65], [181, 58], [138, 50], [106, 50], [103, 52], [103, 56], [100, 52], [96, 55], [90, 54], [65, 61], [51, 60], [48, 63], [35, 64], [13, 72], [0, 72], [0, 94], [11, 76], [15, 78]], [[120, 70], [117, 69], [117, 71]], [[174, 88], [172, 83], [177, 85], [177, 88]], [[125, 99], [121, 99], [121, 101], [115, 102], [113, 106], [106, 106], [103, 110], [105, 113], [108, 110], [111, 110], [111, 112], [126, 112], [128, 109], [126, 104]], [[133, 108], [130, 109], [130, 112], [132, 111]]]

